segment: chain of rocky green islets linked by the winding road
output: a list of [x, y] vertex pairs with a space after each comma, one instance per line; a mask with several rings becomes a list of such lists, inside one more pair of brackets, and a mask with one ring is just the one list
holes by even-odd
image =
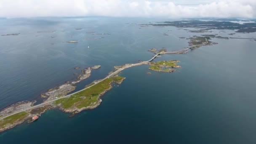
[[[59, 108], [64, 112], [72, 112], [73, 114], [81, 112], [84, 109], [93, 109], [101, 104], [102, 100], [100, 97], [112, 88], [112, 83], [121, 84], [123, 82], [125, 77], [118, 76], [117, 74], [119, 72], [139, 65], [149, 65], [150, 70], [157, 72], [175, 72], [173, 68], [180, 68], [180, 66], [177, 65], [178, 60], [152, 61], [160, 55], [187, 53], [188, 49], [213, 44], [209, 39], [209, 37], [193, 37], [189, 43], [190, 47], [180, 51], [168, 52], [166, 48], [162, 48], [156, 52], [157, 49], [153, 48], [150, 52], [155, 53], [155, 55], [148, 61], [115, 66], [115, 69], [109, 72], [107, 77], [101, 80], [95, 80], [91, 84], [86, 85], [82, 90], [68, 94], [75, 90], [77, 83], [90, 77], [92, 70], [99, 69], [101, 66], [97, 65], [82, 69], [81, 74], [75, 81], [66, 82], [63, 85], [51, 88], [47, 92], [42, 93], [41, 96], [45, 100], [41, 104], [34, 105], [36, 101], [21, 101], [2, 109], [0, 111], [0, 132], [13, 128], [26, 120], [32, 122], [48, 109]], [[74, 69], [77, 70], [79, 68], [80, 67], [75, 67]], [[151, 74], [151, 72], [147, 72], [147, 74]]]

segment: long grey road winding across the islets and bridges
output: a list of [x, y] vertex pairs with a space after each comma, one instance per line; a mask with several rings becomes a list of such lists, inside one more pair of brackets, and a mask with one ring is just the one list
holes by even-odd
[[[206, 43], [203, 43], [203, 44], [201, 44], [201, 45], [206, 45], [206, 44], [208, 43], [208, 41], [207, 41], [206, 38], [205, 38], [205, 40], [206, 40]], [[189, 47], [189, 48], [192, 48], [192, 47], [195, 47], [195, 46], [201, 46], [201, 45], [194, 45], [194, 46], [191, 46], [191, 47]], [[184, 50], [187, 51], [189, 48], [186, 48], [186, 49], [184, 49]], [[181, 51], [184, 51], [184, 50], [181, 50]], [[180, 51], [173, 51], [173, 52], [171, 52], [171, 53], [179, 53], [179, 52], [180, 52]], [[73, 94], [76, 94], [76, 93], [79, 93], [79, 92], [81, 92], [81, 91], [84, 91], [84, 90], [86, 90], [86, 89], [88, 89], [88, 88], [91, 88], [92, 86], [96, 85], [97, 83], [100, 83], [100, 82], [102, 82], [103, 80], [106, 80], [107, 78], [116, 75], [117, 73], [121, 72], [121, 71], [124, 70], [124, 69], [127, 69], [127, 68], [129, 68], [129, 67], [135, 67], [135, 66], [143, 65], [143, 64], [148, 64], [150, 61], [153, 61], [153, 60], [154, 60], [158, 55], [160, 55], [160, 54], [161, 54], [161, 55], [162, 55], [162, 54], [170, 54], [170, 52], [160, 52], [160, 53], [155, 54], [155, 56], [153, 56], [152, 59], [149, 59], [148, 61], [142, 61], [142, 62], [139, 62], [139, 63], [137, 63], [137, 64], [130, 64], [130, 65], [128, 65], [128, 66], [122, 67], [122, 68], [120, 68], [120, 69], [117, 69], [117, 71], [113, 72], [112, 74], [107, 75], [107, 77], [105, 77], [105, 78], [103, 78], [103, 79], [101, 79], [101, 80], [98, 80], [98, 81], [94, 82], [93, 85], [91, 85], [91, 86], [89, 86], [89, 87], [87, 87], [87, 88], [84, 88], [84, 89], [82, 89], [82, 90], [80, 90], [80, 91], [77, 91], [77, 92], [75, 92], [75, 93], [71, 93], [71, 94], [69, 94], [69, 95], [67, 95], [67, 96], [62, 96], [62, 97], [59, 97], [59, 98], [57, 98], [57, 99], [53, 99], [53, 100], [51, 100], [51, 101], [45, 101], [45, 102], [43, 102], [43, 103], [41, 103], [41, 104], [37, 104], [37, 105], [32, 106], [32, 107], [29, 107], [29, 108], [27, 108], [27, 109], [18, 110], [18, 111], [16, 111], [16, 112], [13, 112], [13, 113], [11, 113], [11, 114], [9, 114], [9, 115], [6, 115], [6, 116], [4, 116], [4, 117], [0, 117], [0, 120], [4, 119], [4, 118], [6, 118], [6, 117], [9, 117], [9, 116], [11, 116], [11, 115], [17, 114], [17, 113], [19, 113], [19, 112], [27, 112], [28, 110], [32, 110], [32, 109], [35, 109], [35, 108], [38, 108], [38, 107], [43, 107], [43, 106], [45, 106], [45, 105], [52, 104], [54, 101], [59, 100], [59, 99], [68, 98], [68, 97], [72, 96]]]

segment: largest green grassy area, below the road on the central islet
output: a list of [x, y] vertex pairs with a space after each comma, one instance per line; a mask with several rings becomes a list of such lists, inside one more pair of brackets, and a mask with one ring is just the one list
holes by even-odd
[[[124, 77], [109, 77], [92, 87], [76, 93], [69, 98], [63, 98], [55, 101], [55, 104], [61, 104], [61, 107], [68, 109], [72, 106], [77, 107], [78, 109], [83, 107], [94, 106], [98, 103], [98, 98], [101, 93], [104, 93], [111, 88], [111, 83], [120, 83], [124, 80]], [[90, 84], [92, 85], [92, 84]]]

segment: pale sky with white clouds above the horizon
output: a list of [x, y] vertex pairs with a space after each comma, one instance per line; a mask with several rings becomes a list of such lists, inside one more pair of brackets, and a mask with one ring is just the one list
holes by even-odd
[[0, 0], [0, 17], [256, 18], [256, 0]]

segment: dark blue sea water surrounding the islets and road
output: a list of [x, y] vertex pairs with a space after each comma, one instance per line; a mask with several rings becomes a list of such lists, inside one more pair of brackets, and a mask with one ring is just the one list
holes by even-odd
[[[17, 101], [40, 100], [40, 93], [74, 80], [73, 73], [80, 71], [74, 67], [101, 65], [77, 85], [77, 91], [105, 77], [116, 65], [151, 59], [153, 54], [147, 52], [151, 48], [187, 47], [188, 40], [179, 37], [234, 33], [138, 25], [157, 21], [164, 19], [0, 19], [0, 35], [20, 33], [0, 36], [0, 109]], [[111, 35], [86, 33], [91, 31]], [[70, 40], [78, 43], [64, 43]], [[254, 144], [256, 41], [212, 41], [218, 44], [157, 58], [181, 61], [182, 68], [174, 73], [147, 75], [146, 65], [125, 69], [120, 75], [126, 79], [102, 96], [99, 107], [72, 118], [58, 109], [49, 110], [34, 123], [0, 133], [0, 144]]]

